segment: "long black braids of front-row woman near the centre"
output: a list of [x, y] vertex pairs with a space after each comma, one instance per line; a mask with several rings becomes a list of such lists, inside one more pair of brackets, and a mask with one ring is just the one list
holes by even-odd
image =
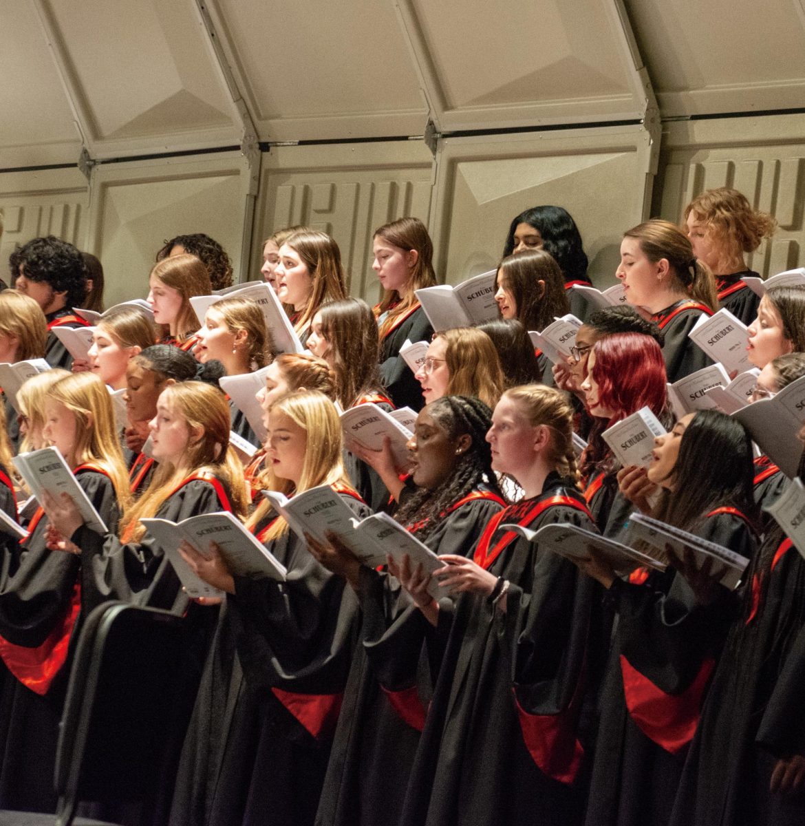
[[447, 515], [445, 511], [481, 484], [502, 498], [492, 453], [486, 442], [486, 432], [492, 426], [492, 411], [483, 401], [473, 396], [442, 396], [429, 404], [428, 412], [447, 431], [450, 439], [469, 434], [472, 444], [462, 453], [453, 468], [452, 477], [431, 491], [417, 488], [413, 496], [395, 514], [401, 525], [419, 523], [417, 539], [433, 534]]

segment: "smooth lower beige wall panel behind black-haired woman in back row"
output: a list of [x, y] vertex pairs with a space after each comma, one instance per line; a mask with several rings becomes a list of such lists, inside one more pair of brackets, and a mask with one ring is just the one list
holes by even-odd
[[651, 164], [640, 127], [445, 140], [433, 220], [439, 278], [494, 268], [514, 216], [555, 204], [579, 226], [590, 276], [608, 286], [623, 230], [647, 209]]

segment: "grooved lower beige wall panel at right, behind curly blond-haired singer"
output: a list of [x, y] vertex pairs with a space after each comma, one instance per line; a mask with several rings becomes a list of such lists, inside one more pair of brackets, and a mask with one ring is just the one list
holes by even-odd
[[663, 135], [655, 211], [681, 221], [705, 189], [733, 187], [779, 228], [747, 257], [761, 275], [805, 265], [805, 117], [770, 116], [671, 123]]

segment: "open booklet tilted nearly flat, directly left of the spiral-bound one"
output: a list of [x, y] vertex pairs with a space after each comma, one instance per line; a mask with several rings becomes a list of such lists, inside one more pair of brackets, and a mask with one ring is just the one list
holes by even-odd
[[623, 576], [637, 567], [650, 567], [665, 571], [667, 563], [651, 554], [643, 553], [637, 548], [615, 542], [613, 539], [594, 534], [577, 525], [543, 525], [539, 530], [524, 528], [523, 525], [501, 525], [501, 528], [513, 530], [528, 542], [536, 542], [553, 553], [558, 553], [571, 561], [590, 557], [590, 550], [599, 554], [612, 567], [613, 571]]

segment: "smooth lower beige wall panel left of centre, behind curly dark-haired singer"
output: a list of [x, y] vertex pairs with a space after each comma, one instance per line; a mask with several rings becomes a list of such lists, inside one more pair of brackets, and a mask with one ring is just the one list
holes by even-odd
[[174, 235], [211, 235], [238, 278], [247, 191], [236, 153], [96, 167], [88, 249], [103, 263], [107, 306], [147, 295], [155, 254]]

